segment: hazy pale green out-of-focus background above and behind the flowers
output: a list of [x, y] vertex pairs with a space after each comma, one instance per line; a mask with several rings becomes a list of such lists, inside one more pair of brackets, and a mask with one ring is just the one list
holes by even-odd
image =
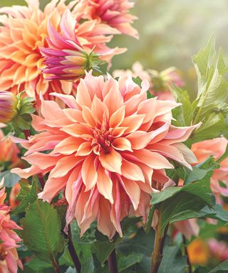
[[[38, 0], [37, 0], [38, 1]], [[40, 0], [45, 6], [47, 0]], [[26, 4], [24, 0], [0, 0], [0, 6]], [[187, 90], [195, 92], [192, 55], [206, 45], [212, 34], [217, 47], [228, 51], [227, 0], [136, 0], [133, 14], [140, 40], [116, 36], [112, 45], [128, 48], [115, 56], [112, 69], [131, 68], [140, 61], [144, 68], [164, 70], [175, 66], [182, 72]]]

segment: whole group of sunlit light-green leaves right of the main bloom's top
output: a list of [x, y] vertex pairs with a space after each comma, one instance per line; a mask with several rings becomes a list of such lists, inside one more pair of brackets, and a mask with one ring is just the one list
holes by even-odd
[[228, 82], [225, 80], [228, 68], [222, 50], [216, 54], [213, 38], [194, 56], [193, 63], [198, 79], [196, 100], [191, 102], [188, 93], [175, 85], [171, 88], [177, 102], [182, 103], [172, 111], [176, 119], [173, 124], [188, 126], [202, 122], [187, 141], [189, 145], [227, 134], [228, 130]]

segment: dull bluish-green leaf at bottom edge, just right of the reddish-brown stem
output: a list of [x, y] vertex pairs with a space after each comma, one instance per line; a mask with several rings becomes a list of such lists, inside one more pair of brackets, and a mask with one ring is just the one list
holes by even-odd
[[158, 273], [182, 273], [187, 267], [187, 259], [178, 246], [165, 246]]

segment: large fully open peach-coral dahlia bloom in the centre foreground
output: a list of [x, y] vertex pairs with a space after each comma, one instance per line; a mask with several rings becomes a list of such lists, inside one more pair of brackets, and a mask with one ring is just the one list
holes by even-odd
[[32, 123], [41, 133], [21, 140], [31, 167], [13, 172], [22, 178], [50, 172], [40, 198], [51, 202], [63, 191], [66, 221], [76, 218], [82, 234], [97, 220], [109, 238], [115, 231], [122, 236], [120, 221], [130, 209], [146, 218], [150, 193], [170, 184], [167, 158], [189, 168], [196, 160], [181, 143], [196, 126], [172, 126], [178, 104], [147, 100], [147, 87], [145, 81], [140, 88], [128, 77], [104, 80], [88, 73], [76, 98], [56, 94], [67, 109], [42, 100], [42, 116], [34, 115]]

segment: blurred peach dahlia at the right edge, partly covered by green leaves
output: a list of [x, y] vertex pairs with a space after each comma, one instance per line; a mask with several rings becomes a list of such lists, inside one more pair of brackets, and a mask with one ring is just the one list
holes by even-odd
[[[224, 154], [227, 143], [228, 141], [224, 137], [209, 139], [193, 144], [192, 151], [199, 163], [209, 156], [214, 156], [214, 159], [217, 160]], [[222, 186], [220, 181], [222, 181]], [[211, 178], [211, 188], [217, 199], [219, 199], [219, 195], [228, 196], [228, 158], [220, 163], [220, 168], [214, 170]]]

